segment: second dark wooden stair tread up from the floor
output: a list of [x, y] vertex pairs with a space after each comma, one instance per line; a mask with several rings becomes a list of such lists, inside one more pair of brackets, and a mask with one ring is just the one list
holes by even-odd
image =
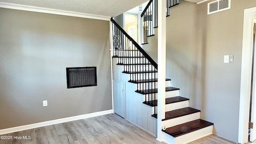
[[[180, 108], [180, 109], [177, 109], [177, 110], [168, 111], [168, 112], [165, 112], [165, 118], [162, 119], [162, 121], [170, 120], [172, 118], [178, 118], [180, 116], [186, 116], [186, 115], [189, 115], [189, 114], [194, 114], [196, 112], [201, 112], [201, 110], [186, 107], [186, 108]], [[154, 115], [154, 118], [157, 118], [157, 114]]]

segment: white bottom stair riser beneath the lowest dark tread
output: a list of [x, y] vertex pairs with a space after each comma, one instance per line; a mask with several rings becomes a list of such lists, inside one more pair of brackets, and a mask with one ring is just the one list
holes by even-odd
[[213, 126], [208, 126], [208, 127], [196, 130], [194, 132], [190, 132], [188, 134], [178, 136], [176, 138], [163, 132], [164, 133], [163, 140], [167, 144], [187, 144], [188, 142], [192, 142], [194, 140], [197, 140], [199, 138], [212, 134], [212, 130], [213, 130]]

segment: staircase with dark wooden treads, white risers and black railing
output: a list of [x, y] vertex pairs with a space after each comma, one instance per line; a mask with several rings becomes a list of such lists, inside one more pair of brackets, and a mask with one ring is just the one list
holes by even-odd
[[[130, 107], [132, 112], [127, 114], [134, 117], [126, 119], [156, 136], [156, 130], [160, 129], [157, 128], [158, 65], [112, 18], [111, 28], [112, 61], [116, 62], [114, 79], [128, 82], [126, 98], [136, 107]], [[188, 107], [189, 99], [181, 97], [179, 90], [166, 78], [166, 112], [162, 119], [166, 130], [162, 131], [168, 144], [186, 144], [212, 134], [213, 130], [213, 123], [200, 119], [200, 110]]]

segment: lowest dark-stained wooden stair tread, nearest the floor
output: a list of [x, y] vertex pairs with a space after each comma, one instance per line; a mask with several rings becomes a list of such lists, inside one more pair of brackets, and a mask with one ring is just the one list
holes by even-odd
[[184, 134], [188, 134], [190, 132], [194, 132], [196, 130], [200, 130], [202, 128], [206, 128], [208, 126], [212, 126], [213, 123], [207, 122], [205, 120], [193, 120], [191, 122], [186, 122], [184, 124], [179, 124], [177, 126], [172, 126], [170, 128], [166, 128], [166, 130], [162, 130], [166, 134], [169, 134], [170, 136], [178, 137], [182, 136]]

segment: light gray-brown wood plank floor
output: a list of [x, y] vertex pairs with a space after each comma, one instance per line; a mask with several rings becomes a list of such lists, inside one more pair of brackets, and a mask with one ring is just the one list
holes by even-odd
[[[31, 139], [0, 140], [0, 144], [165, 144], [116, 114], [34, 128], [3, 136]], [[189, 144], [235, 144], [214, 134]]]

